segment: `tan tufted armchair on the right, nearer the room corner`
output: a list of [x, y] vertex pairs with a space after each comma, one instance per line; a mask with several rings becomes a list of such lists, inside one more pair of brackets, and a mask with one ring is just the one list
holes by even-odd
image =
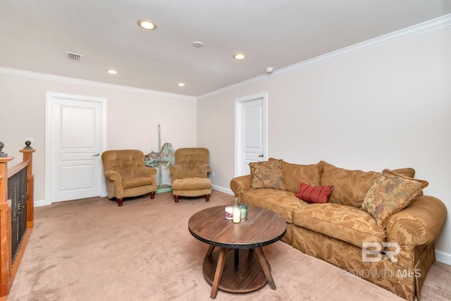
[[202, 147], [181, 148], [175, 151], [175, 164], [169, 168], [172, 174], [172, 192], [178, 203], [180, 196], [199, 197], [205, 195], [206, 202], [211, 194], [211, 181], [207, 173], [209, 150]]

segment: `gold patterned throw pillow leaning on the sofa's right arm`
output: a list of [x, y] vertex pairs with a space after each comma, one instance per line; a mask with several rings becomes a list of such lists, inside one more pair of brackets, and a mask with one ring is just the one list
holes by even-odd
[[404, 209], [428, 184], [425, 180], [384, 169], [368, 190], [362, 209], [371, 214], [378, 227], [383, 229], [390, 216]]

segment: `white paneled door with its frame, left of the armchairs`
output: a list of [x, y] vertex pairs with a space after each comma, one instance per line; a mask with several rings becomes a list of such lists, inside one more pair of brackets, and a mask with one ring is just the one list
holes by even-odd
[[47, 94], [51, 202], [101, 195], [105, 106], [97, 97]]

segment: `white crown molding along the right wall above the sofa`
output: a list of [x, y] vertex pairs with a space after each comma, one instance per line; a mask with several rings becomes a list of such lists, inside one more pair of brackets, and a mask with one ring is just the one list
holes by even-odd
[[369, 39], [365, 42], [354, 44], [350, 47], [345, 47], [339, 49], [337, 51], [330, 52], [328, 54], [324, 54], [322, 56], [317, 56], [314, 59], [309, 59], [307, 61], [302, 61], [300, 63], [296, 63], [295, 65], [288, 66], [279, 70], [275, 70], [271, 75], [259, 75], [256, 78], [251, 78], [249, 80], [245, 80], [242, 82], [238, 82], [234, 85], [230, 85], [228, 87], [223, 87], [218, 90], [214, 90], [212, 92], [208, 92], [202, 95], [199, 95], [197, 99], [205, 99], [208, 97], [212, 97], [217, 94], [221, 94], [226, 91], [235, 90], [239, 87], [245, 87], [247, 85], [252, 85], [257, 82], [263, 82], [265, 80], [269, 80], [271, 78], [278, 77], [280, 75], [286, 75], [288, 73], [292, 73], [298, 70], [302, 70], [305, 68], [309, 68], [311, 66], [319, 65], [320, 63], [325, 63], [327, 61], [332, 61], [335, 59], [340, 59], [343, 56], [349, 56], [351, 54], [355, 54], [360, 51], [365, 51], [367, 49], [372, 49], [375, 47], [379, 47], [383, 44], [388, 44], [392, 42], [396, 42], [400, 39], [407, 39], [409, 37], [414, 37], [415, 35], [421, 35], [424, 32], [429, 32], [431, 30], [437, 30], [441, 27], [446, 27], [451, 25], [451, 14], [435, 18], [433, 20], [428, 20], [424, 23], [419, 23], [417, 25], [404, 28], [402, 30], [397, 30], [395, 32], [391, 32], [387, 35], [382, 35], [381, 37], [376, 37], [374, 39]]

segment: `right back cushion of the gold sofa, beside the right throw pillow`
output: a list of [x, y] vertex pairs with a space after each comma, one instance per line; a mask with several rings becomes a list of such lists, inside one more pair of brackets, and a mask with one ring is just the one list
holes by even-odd
[[[366, 193], [381, 176], [381, 173], [376, 171], [348, 170], [335, 167], [326, 161], [321, 161], [321, 163], [323, 164], [323, 173], [320, 185], [333, 186], [329, 202], [335, 204], [361, 208]], [[400, 168], [394, 171], [411, 178], [415, 175], [413, 168]]]

